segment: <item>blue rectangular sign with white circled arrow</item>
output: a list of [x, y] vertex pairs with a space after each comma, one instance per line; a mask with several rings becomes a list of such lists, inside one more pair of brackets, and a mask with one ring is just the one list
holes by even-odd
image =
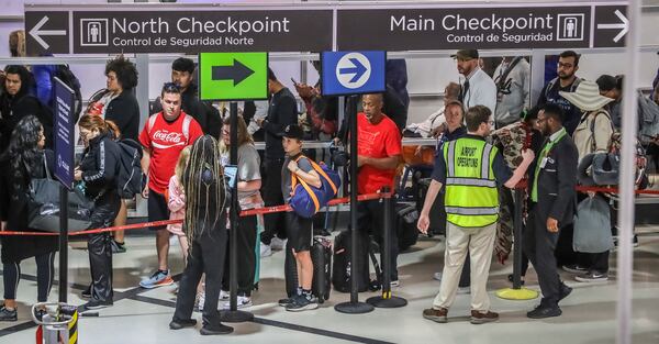
[[384, 91], [384, 52], [324, 52], [321, 54], [323, 95]]

